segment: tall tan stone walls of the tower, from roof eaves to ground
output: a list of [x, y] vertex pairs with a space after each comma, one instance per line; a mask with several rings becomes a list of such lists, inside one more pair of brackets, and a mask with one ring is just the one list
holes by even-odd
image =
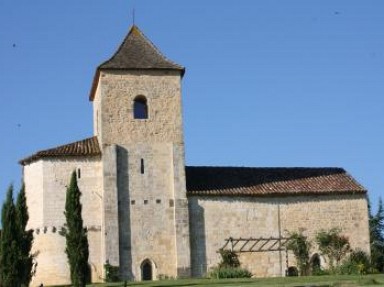
[[[94, 102], [94, 116], [99, 118], [94, 125], [99, 127], [95, 130], [103, 148], [103, 166], [116, 167], [118, 194], [118, 206], [104, 212], [118, 214], [119, 220], [115, 227], [116, 221], [106, 217], [105, 229], [118, 234], [108, 236], [119, 244], [118, 260], [126, 279], [141, 280], [145, 260], [152, 263], [154, 278], [189, 275], [180, 88], [180, 73], [172, 71], [100, 75]], [[147, 99], [147, 119], [134, 119], [133, 103], [139, 95]], [[110, 189], [108, 182], [104, 192]], [[112, 196], [113, 191], [108, 192]], [[105, 257], [117, 260], [108, 248]]]

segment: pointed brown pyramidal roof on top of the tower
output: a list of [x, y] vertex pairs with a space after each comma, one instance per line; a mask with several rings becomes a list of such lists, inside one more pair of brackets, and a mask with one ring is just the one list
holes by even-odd
[[133, 25], [116, 53], [97, 67], [89, 99], [92, 101], [100, 71], [103, 70], [174, 70], [184, 75], [185, 68], [166, 58], [159, 49]]

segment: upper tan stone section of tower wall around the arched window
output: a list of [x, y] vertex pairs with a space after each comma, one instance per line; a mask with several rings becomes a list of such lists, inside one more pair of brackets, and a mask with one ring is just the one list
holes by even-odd
[[[100, 100], [99, 140], [102, 145], [183, 144], [178, 72], [108, 71], [102, 72], [100, 77], [96, 96], [100, 97], [97, 101]], [[139, 95], [147, 99], [148, 119], [133, 118], [133, 100]]]

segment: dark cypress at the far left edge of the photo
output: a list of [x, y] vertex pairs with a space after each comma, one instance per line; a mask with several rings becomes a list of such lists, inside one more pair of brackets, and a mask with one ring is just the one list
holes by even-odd
[[3, 228], [0, 243], [1, 284], [3, 287], [20, 286], [19, 229], [12, 185], [8, 189], [1, 211], [1, 224]]

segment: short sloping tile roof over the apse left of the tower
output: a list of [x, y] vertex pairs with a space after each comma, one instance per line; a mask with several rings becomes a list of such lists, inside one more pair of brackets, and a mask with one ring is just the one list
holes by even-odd
[[19, 161], [21, 165], [29, 164], [41, 158], [72, 157], [72, 156], [99, 156], [101, 155], [97, 137], [61, 145], [51, 149], [41, 150]]

